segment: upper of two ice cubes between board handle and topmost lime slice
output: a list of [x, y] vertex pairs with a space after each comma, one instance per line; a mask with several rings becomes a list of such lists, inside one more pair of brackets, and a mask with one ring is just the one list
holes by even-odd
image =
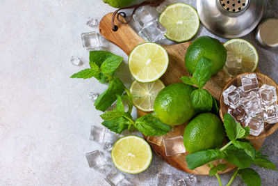
[[154, 20], [158, 19], [158, 15], [149, 9], [149, 7], [142, 6], [136, 10], [133, 15], [133, 20], [142, 28], [151, 24]]

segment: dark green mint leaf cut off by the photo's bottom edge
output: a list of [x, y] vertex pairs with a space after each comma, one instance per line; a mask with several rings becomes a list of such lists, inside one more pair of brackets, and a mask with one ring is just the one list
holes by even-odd
[[243, 179], [247, 186], [261, 186], [261, 178], [253, 169], [240, 169], [238, 175]]

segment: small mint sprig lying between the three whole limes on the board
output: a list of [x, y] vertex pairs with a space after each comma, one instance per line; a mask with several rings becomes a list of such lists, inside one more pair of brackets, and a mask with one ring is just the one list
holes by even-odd
[[195, 111], [199, 113], [211, 111], [213, 106], [215, 110], [218, 110], [217, 104], [215, 104], [216, 100], [213, 100], [213, 97], [208, 91], [202, 89], [206, 82], [208, 82], [208, 79], [211, 78], [212, 64], [212, 61], [202, 57], [197, 63], [196, 69], [193, 72], [193, 77], [181, 77], [183, 83], [199, 87], [199, 89], [191, 93], [191, 102]]

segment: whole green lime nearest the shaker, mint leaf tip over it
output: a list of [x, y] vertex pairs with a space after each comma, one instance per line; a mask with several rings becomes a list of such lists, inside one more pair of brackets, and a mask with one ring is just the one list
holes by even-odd
[[191, 45], [189, 45], [184, 60], [186, 68], [191, 75], [195, 71], [196, 65], [202, 56], [213, 61], [211, 75], [216, 75], [226, 63], [227, 50], [221, 42], [215, 38], [201, 36], [195, 39]]

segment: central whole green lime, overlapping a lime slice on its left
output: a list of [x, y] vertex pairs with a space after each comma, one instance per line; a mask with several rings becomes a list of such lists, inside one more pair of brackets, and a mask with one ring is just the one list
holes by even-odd
[[195, 116], [190, 95], [193, 86], [177, 83], [170, 84], [158, 93], [154, 100], [153, 116], [167, 125], [181, 125]]

